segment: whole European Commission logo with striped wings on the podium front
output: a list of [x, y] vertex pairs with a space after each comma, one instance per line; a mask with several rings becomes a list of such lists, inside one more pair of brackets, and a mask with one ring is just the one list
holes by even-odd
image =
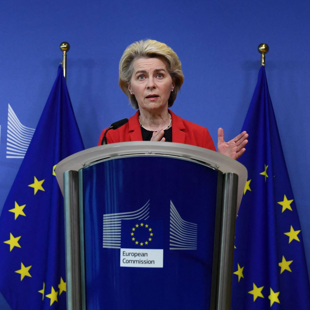
[[197, 224], [185, 221], [170, 201], [169, 240], [162, 220], [150, 218], [150, 201], [141, 208], [103, 215], [103, 248], [120, 249], [121, 267], [163, 268], [163, 244], [170, 250], [197, 250]]

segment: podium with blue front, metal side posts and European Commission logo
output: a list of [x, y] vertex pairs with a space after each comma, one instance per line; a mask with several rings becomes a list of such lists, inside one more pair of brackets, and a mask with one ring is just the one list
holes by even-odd
[[186, 144], [123, 142], [56, 167], [68, 309], [230, 309], [246, 168]]

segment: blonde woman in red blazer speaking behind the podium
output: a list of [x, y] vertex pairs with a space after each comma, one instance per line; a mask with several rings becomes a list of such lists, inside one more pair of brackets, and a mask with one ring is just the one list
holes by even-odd
[[[183, 80], [181, 62], [166, 44], [141, 40], [128, 46], [119, 63], [119, 86], [132, 107], [139, 110], [124, 126], [108, 131], [108, 143], [168, 141], [215, 151], [206, 128], [188, 122], [168, 109], [173, 105]], [[104, 131], [100, 135], [99, 145]], [[218, 152], [237, 159], [245, 151], [247, 137], [244, 131], [229, 142], [224, 142], [224, 131], [219, 128]]]

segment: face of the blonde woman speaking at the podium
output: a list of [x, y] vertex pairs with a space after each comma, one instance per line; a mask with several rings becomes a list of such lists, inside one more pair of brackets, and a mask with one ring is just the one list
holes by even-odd
[[161, 112], [168, 109], [168, 99], [175, 83], [160, 58], [138, 58], [133, 61], [133, 72], [128, 85], [135, 95], [139, 109]]

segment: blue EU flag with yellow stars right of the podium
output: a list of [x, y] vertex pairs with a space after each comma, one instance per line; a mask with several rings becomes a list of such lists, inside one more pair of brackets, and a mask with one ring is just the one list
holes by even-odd
[[303, 237], [264, 66], [243, 130], [251, 139], [240, 160], [248, 180], [236, 220], [232, 309], [308, 310]]

